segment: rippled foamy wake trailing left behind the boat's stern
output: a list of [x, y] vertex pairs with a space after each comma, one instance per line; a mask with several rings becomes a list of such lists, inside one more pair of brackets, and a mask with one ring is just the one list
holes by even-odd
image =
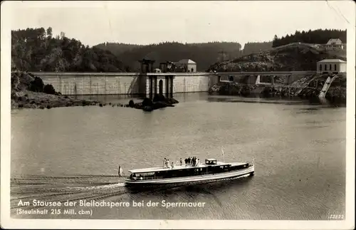
[[80, 199], [124, 199], [125, 183], [117, 177], [15, 177], [11, 179], [11, 209], [19, 202], [66, 202]]

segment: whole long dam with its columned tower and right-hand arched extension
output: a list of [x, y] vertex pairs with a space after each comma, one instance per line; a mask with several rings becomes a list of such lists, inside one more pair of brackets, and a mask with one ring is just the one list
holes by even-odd
[[63, 95], [145, 95], [155, 93], [206, 92], [219, 82], [273, 85], [274, 79], [286, 75], [285, 84], [293, 83], [315, 71], [273, 72], [188, 72], [188, 73], [60, 73], [32, 72], [43, 83], [53, 85]]

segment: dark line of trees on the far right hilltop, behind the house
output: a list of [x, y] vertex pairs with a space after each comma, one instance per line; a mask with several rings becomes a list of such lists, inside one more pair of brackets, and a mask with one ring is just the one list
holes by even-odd
[[288, 43], [314, 43], [314, 44], [325, 44], [330, 38], [340, 38], [342, 43], [346, 43], [346, 31], [336, 30], [336, 29], [318, 29], [315, 31], [295, 31], [294, 34], [282, 36], [278, 38], [274, 36], [273, 47], [283, 46]]

